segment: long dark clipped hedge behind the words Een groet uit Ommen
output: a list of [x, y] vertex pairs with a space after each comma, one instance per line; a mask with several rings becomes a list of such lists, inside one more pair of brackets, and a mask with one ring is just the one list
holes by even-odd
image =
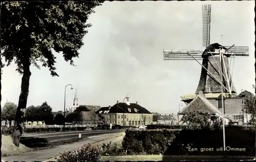
[[[246, 151], [227, 151], [230, 156], [255, 155], [255, 131], [251, 127], [231, 126], [225, 129], [226, 148], [244, 148]], [[129, 154], [164, 155], [222, 155], [223, 131], [210, 129], [126, 130], [123, 149]], [[197, 148], [197, 151], [192, 151]], [[205, 149], [205, 150], [201, 150]], [[206, 149], [213, 148], [212, 151]]]

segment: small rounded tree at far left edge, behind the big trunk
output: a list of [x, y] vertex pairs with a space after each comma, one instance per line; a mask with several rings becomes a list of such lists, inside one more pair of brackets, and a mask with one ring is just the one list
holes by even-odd
[[3, 107], [3, 112], [1, 114], [2, 120], [9, 121], [9, 126], [11, 126], [11, 121], [15, 118], [15, 113], [17, 111], [17, 105], [12, 102], [5, 103]]

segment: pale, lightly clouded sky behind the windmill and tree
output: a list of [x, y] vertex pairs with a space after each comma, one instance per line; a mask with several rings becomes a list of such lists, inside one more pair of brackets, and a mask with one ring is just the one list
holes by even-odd
[[[56, 72], [31, 67], [27, 106], [48, 102], [53, 111], [71, 107], [75, 89], [82, 105], [114, 105], [129, 94], [130, 102], [161, 114], [177, 113], [180, 96], [194, 94], [201, 66], [196, 61], [163, 60], [163, 49], [204, 50], [202, 5], [211, 4], [210, 42], [249, 46], [248, 57], [236, 57], [233, 82], [237, 91], [252, 91], [254, 72], [254, 1], [104, 2], [88, 23], [76, 66], [54, 53]], [[18, 103], [21, 78], [16, 65], [4, 67], [2, 101]], [[182, 107], [185, 103], [182, 103]]]

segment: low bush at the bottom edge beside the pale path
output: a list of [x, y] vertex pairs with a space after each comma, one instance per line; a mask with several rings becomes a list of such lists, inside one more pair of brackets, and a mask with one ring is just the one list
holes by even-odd
[[100, 157], [99, 147], [92, 145], [84, 145], [76, 151], [69, 151], [60, 155], [58, 161], [97, 161]]

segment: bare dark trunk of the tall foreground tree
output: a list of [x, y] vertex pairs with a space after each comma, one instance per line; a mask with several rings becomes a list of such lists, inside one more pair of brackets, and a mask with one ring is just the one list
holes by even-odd
[[[14, 145], [19, 147], [19, 140], [22, 137], [23, 133], [23, 123], [25, 117], [25, 111], [27, 107], [27, 100], [29, 95], [29, 80], [31, 76], [30, 72], [30, 53], [24, 54], [23, 58], [23, 77], [22, 77], [22, 85], [18, 100], [18, 107], [15, 116], [15, 123], [12, 132], [12, 142]], [[26, 57], [27, 56], [27, 57]]]

